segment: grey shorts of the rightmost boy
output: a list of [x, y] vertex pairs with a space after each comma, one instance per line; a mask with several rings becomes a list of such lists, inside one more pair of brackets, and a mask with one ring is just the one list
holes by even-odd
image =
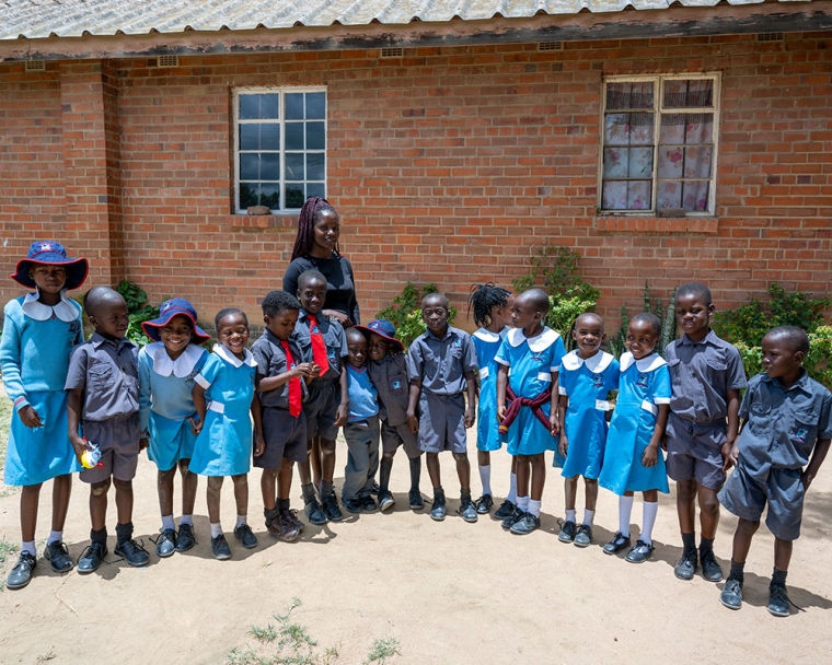
[[765, 525], [781, 540], [797, 540], [804, 516], [802, 469], [769, 469], [762, 477], [748, 472], [740, 460], [719, 492], [720, 503], [731, 513], [756, 522], [769, 503]]

